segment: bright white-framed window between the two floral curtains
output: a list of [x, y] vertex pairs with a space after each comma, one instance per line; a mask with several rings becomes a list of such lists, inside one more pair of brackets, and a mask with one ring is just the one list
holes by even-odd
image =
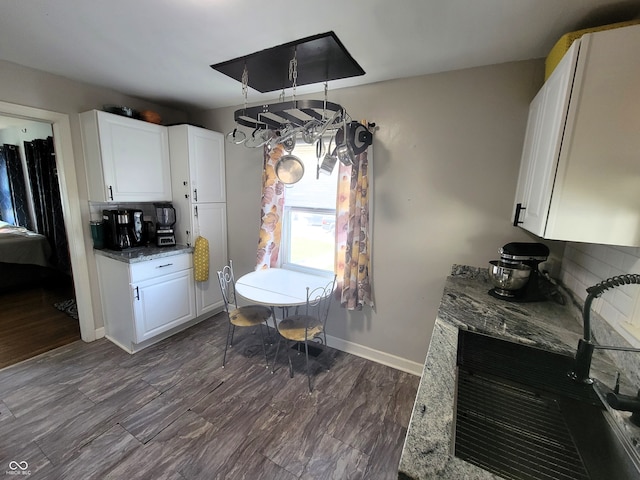
[[299, 182], [286, 187], [282, 266], [333, 272], [338, 165], [331, 175], [320, 173], [316, 179], [315, 145], [297, 142], [293, 154], [304, 163], [304, 175]]

